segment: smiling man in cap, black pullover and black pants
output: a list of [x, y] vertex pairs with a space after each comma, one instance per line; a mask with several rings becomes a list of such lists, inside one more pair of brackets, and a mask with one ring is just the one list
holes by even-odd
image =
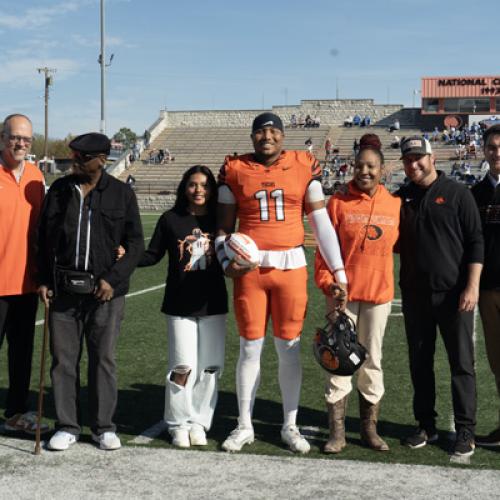
[[415, 449], [438, 439], [434, 350], [439, 327], [451, 370], [453, 453], [470, 456], [476, 424], [473, 320], [484, 251], [479, 212], [465, 186], [436, 170], [427, 139], [406, 138], [401, 153], [410, 182], [397, 192], [400, 286], [418, 422], [405, 444]]

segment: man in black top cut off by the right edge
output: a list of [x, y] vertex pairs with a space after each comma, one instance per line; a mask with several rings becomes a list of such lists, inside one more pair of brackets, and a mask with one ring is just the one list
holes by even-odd
[[[484, 135], [484, 157], [489, 172], [472, 188], [484, 232], [484, 269], [479, 291], [479, 312], [483, 323], [486, 354], [500, 395], [500, 125]], [[500, 446], [500, 423], [486, 436], [476, 436], [481, 446]]]

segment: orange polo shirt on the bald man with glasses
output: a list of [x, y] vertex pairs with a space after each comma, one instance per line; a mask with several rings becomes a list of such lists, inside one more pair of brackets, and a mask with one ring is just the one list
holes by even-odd
[[32, 163], [25, 162], [19, 184], [0, 164], [0, 296], [36, 291], [34, 238], [44, 193]]

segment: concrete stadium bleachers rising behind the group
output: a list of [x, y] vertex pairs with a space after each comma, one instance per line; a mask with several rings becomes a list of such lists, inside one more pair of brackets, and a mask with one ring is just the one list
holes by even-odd
[[[403, 110], [404, 111], [404, 110]], [[389, 132], [389, 119], [380, 120], [370, 127], [344, 127], [342, 125], [322, 125], [319, 128], [290, 128], [285, 130], [285, 148], [305, 150], [305, 141], [311, 138], [314, 154], [320, 161], [325, 160], [324, 143], [330, 137], [342, 159], [353, 157], [353, 143], [365, 133], [375, 133], [380, 137], [388, 171], [391, 172], [389, 189], [396, 189], [403, 182], [405, 175], [399, 159], [399, 149], [391, 148], [394, 136], [407, 137], [422, 134], [419, 115], [409, 111], [401, 114], [401, 129]], [[437, 168], [449, 174], [452, 165], [457, 161], [456, 146], [440, 141], [432, 143]], [[174, 160], [157, 164], [149, 161], [150, 153], [159, 149], [168, 149]], [[135, 178], [135, 190], [138, 195], [162, 195], [175, 193], [183, 172], [192, 165], [203, 164], [217, 174], [225, 156], [233, 153], [243, 154], [252, 151], [249, 128], [241, 127], [178, 127], [166, 128], [143, 151], [128, 170], [122, 172], [120, 178], [126, 180], [128, 175]], [[478, 150], [473, 158], [475, 172], [483, 159]], [[349, 176], [347, 177], [347, 179]]]

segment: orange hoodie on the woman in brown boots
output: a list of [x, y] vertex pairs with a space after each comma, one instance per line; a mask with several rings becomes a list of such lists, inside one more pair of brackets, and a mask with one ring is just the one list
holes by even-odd
[[[328, 215], [337, 231], [349, 281], [349, 301], [385, 304], [394, 298], [393, 247], [399, 235], [401, 200], [380, 185], [370, 198], [353, 181], [347, 194], [335, 194]], [[316, 250], [316, 284], [325, 295], [334, 282]]]

